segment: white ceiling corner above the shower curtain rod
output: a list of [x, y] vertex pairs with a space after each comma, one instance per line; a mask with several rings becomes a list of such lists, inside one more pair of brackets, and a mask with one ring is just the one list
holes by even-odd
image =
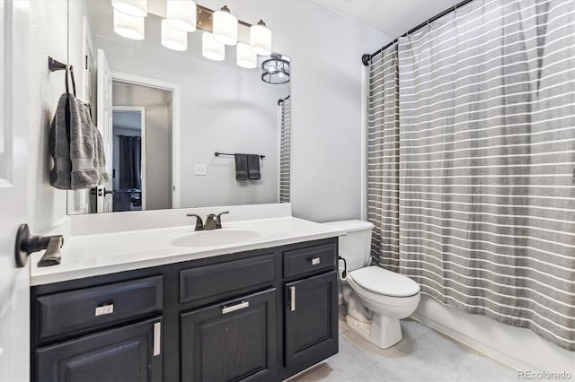
[[315, 0], [369, 28], [389, 40], [403, 35], [461, 0]]

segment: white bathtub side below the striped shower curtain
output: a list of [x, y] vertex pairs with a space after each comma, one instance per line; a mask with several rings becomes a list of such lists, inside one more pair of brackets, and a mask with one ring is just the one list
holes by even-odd
[[549, 343], [526, 328], [470, 315], [425, 296], [413, 317], [518, 370], [566, 371], [575, 378], [575, 352]]

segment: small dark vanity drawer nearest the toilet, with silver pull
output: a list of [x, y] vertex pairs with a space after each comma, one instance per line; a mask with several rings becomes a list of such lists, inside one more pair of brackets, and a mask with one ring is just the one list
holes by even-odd
[[288, 250], [283, 253], [284, 277], [312, 273], [335, 266], [335, 243]]

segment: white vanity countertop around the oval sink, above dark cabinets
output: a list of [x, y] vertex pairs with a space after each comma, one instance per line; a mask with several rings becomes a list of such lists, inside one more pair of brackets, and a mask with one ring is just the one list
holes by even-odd
[[250, 230], [257, 232], [257, 238], [213, 247], [174, 245], [174, 239], [214, 232], [194, 232], [193, 221], [183, 226], [168, 228], [65, 236], [60, 265], [38, 267], [43, 251], [31, 256], [31, 285], [63, 282], [252, 249], [279, 247], [346, 233], [337, 227], [291, 216], [229, 221], [224, 222], [223, 226], [224, 228], [218, 231]]

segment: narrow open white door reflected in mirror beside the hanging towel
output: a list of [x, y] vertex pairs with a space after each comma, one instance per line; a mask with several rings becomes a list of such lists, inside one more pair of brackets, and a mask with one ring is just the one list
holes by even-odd
[[96, 125], [102, 134], [104, 152], [106, 153], [106, 172], [110, 174], [110, 181], [98, 187], [98, 213], [111, 213], [112, 200], [112, 103], [111, 103], [111, 70], [102, 49], [98, 49], [98, 103]]

